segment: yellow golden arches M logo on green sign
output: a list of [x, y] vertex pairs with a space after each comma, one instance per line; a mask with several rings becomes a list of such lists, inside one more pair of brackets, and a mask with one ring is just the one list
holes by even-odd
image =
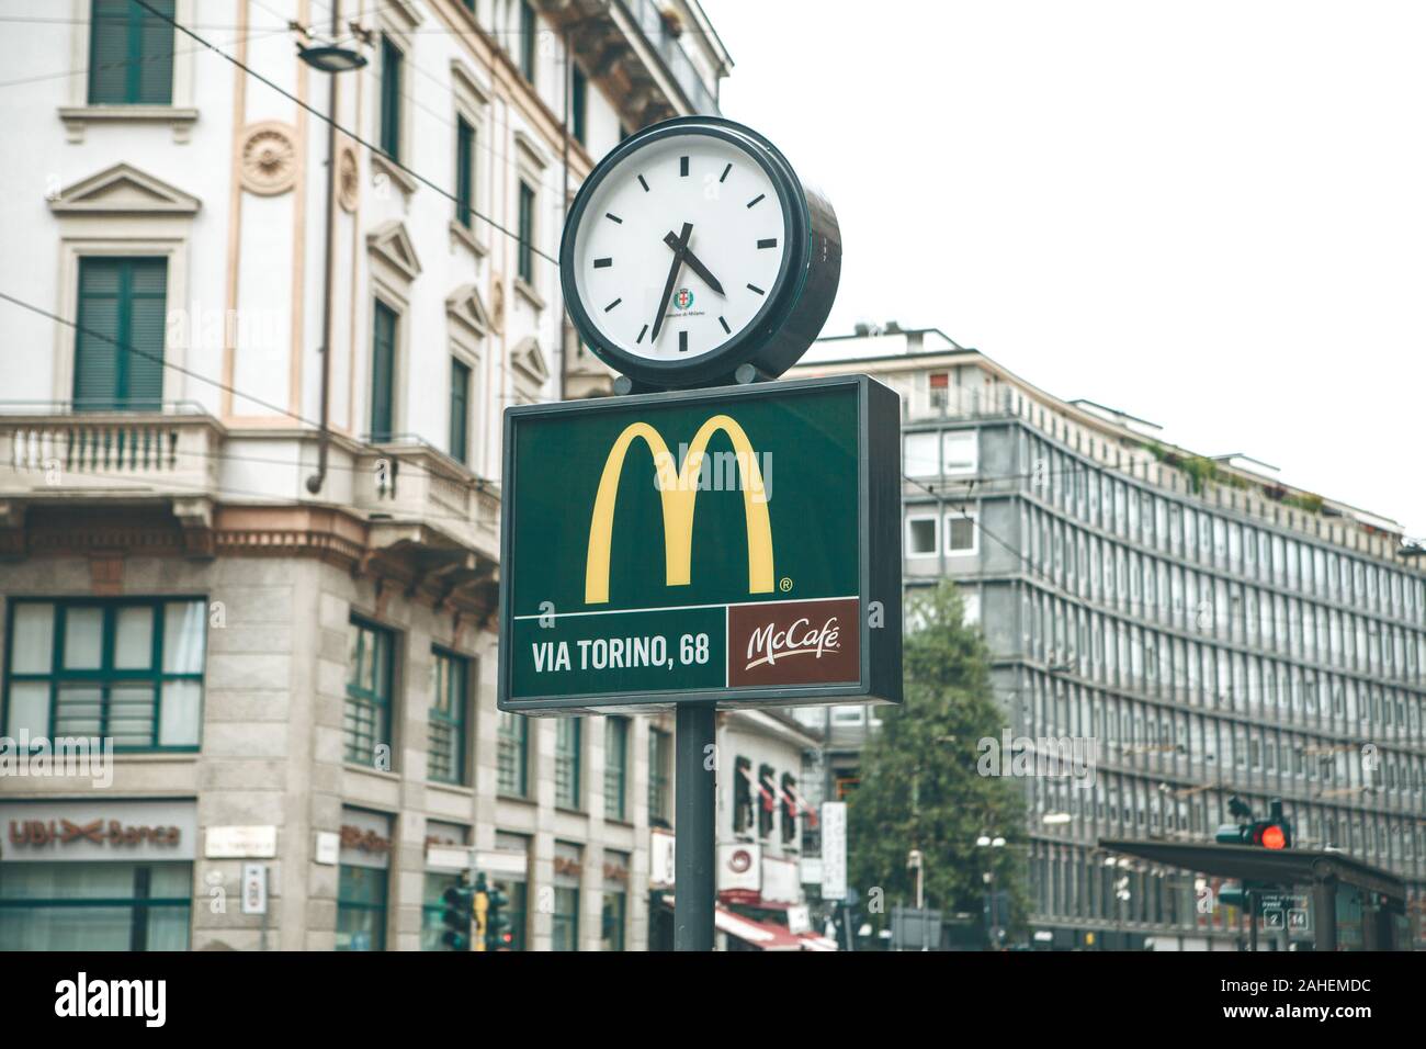
[[605, 472], [599, 477], [599, 492], [595, 495], [595, 512], [589, 521], [589, 558], [585, 562], [585, 604], [599, 605], [609, 601], [609, 547], [615, 535], [615, 502], [619, 500], [619, 477], [623, 474], [625, 457], [635, 440], [642, 440], [653, 454], [653, 465], [659, 478], [659, 495], [663, 507], [663, 551], [665, 584], [686, 587], [692, 575], [693, 561], [693, 507], [699, 497], [699, 474], [709, 440], [716, 432], [727, 434], [737, 455], [737, 471], [743, 485], [743, 517], [747, 521], [747, 592], [770, 594], [773, 589], [773, 525], [767, 517], [767, 497], [763, 488], [763, 472], [757, 468], [757, 454], [747, 434], [729, 415], [713, 415], [699, 427], [683, 468], [669, 452], [659, 431], [647, 422], [630, 422], [619, 434]]

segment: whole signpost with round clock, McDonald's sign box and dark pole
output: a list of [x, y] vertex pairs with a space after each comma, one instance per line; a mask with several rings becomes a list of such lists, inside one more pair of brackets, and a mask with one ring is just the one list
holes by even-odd
[[901, 699], [900, 400], [770, 381], [838, 273], [764, 138], [646, 128], [580, 188], [560, 278], [620, 392], [653, 392], [505, 412], [498, 705], [676, 711], [679, 951], [713, 948], [717, 709]]

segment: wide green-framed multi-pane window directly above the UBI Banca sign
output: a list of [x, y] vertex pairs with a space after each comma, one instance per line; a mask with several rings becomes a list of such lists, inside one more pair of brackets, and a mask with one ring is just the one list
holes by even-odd
[[13, 601], [4, 731], [193, 751], [202, 726], [202, 601]]

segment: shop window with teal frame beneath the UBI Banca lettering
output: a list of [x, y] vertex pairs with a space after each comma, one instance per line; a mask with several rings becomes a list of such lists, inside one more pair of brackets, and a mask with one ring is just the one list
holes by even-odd
[[4, 863], [6, 951], [187, 951], [193, 863]]

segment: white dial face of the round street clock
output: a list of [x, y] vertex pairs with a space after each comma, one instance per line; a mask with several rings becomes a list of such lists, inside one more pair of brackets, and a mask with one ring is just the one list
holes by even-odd
[[713, 353], [773, 294], [787, 251], [786, 207], [761, 164], [733, 141], [650, 141], [615, 164], [585, 206], [576, 294], [605, 340], [627, 354], [680, 361]]

